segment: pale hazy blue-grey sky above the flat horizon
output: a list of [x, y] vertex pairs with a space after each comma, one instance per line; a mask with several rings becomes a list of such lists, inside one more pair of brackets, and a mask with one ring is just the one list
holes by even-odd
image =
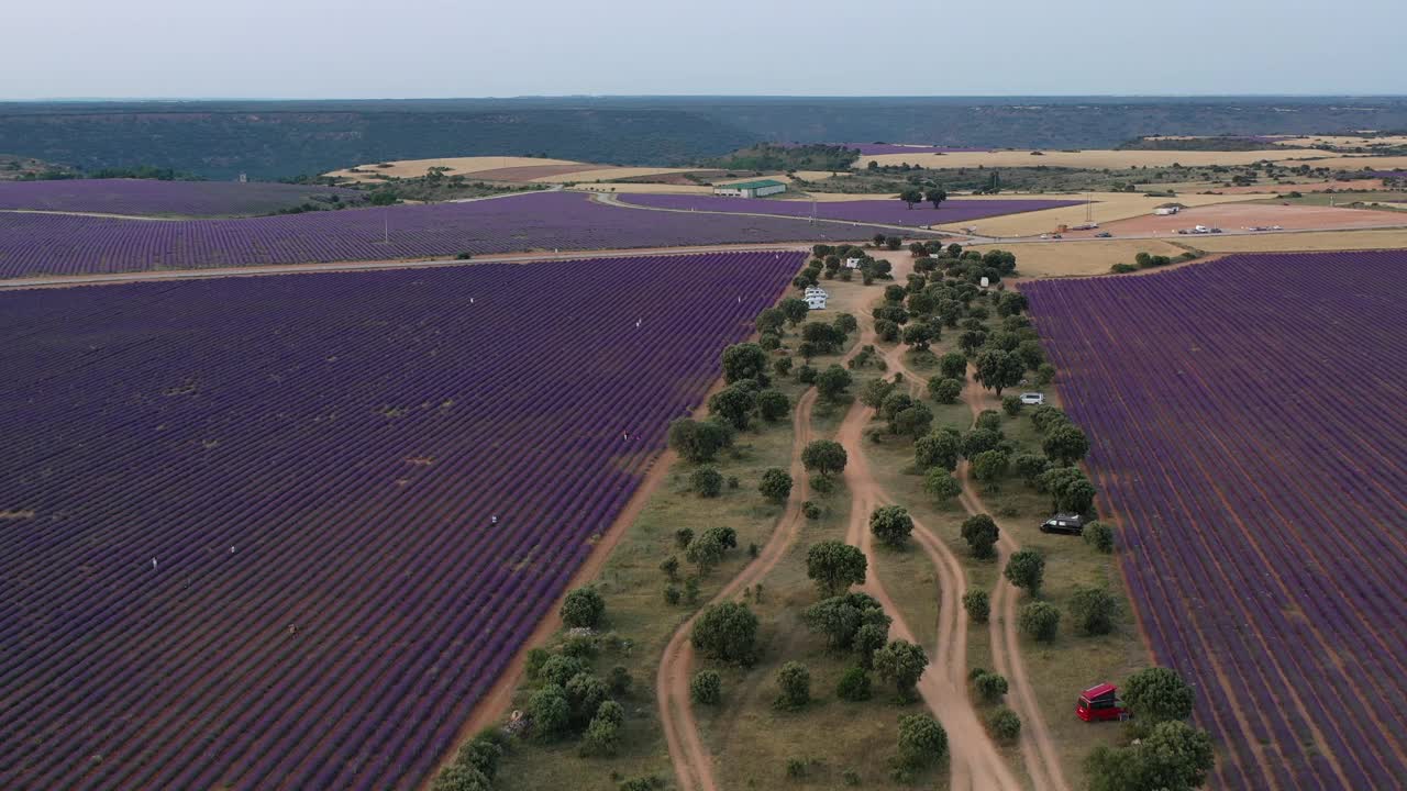
[[0, 99], [1407, 93], [1407, 0], [17, 0]]

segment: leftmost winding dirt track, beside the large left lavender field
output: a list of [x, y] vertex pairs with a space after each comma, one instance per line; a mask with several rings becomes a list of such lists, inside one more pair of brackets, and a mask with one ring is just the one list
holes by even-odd
[[[787, 500], [787, 510], [777, 521], [777, 529], [767, 539], [767, 545], [749, 563], [741, 573], [733, 577], [723, 590], [718, 591], [708, 604], [730, 601], [739, 591], [750, 587], [767, 576], [772, 567], [787, 555], [796, 536], [801, 535], [805, 517], [801, 504], [809, 497], [806, 486], [806, 470], [801, 463], [801, 452], [810, 442], [810, 412], [816, 405], [816, 390], [808, 390], [796, 403], [792, 417], [792, 459], [791, 497]], [[674, 777], [682, 791], [718, 791], [718, 781], [713, 778], [713, 760], [704, 740], [699, 738], [698, 722], [694, 719], [692, 701], [689, 701], [689, 671], [694, 667], [694, 643], [689, 636], [694, 632], [694, 622], [704, 608], [699, 608], [688, 621], [680, 625], [670, 638], [664, 656], [660, 659], [660, 670], [654, 680], [654, 692], [660, 704], [660, 723], [664, 726], [664, 740], [670, 747], [670, 759], [674, 763]]]

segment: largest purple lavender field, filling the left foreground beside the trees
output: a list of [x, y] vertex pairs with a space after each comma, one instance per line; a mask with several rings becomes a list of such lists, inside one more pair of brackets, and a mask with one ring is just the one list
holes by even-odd
[[0, 293], [0, 787], [418, 787], [802, 260]]

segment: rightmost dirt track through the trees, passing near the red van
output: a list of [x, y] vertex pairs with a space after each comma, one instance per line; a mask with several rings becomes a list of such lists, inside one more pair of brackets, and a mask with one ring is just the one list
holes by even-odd
[[[968, 380], [971, 384], [962, 388], [962, 401], [972, 411], [972, 419], [982, 410], [1000, 410], [996, 398], [976, 386], [975, 370], [968, 366]], [[960, 497], [968, 514], [989, 514], [1000, 531], [998, 539], [998, 570], [1006, 569], [1006, 562], [1021, 545], [1013, 538], [1009, 525], [992, 514], [982, 498], [976, 494], [964, 460], [958, 466], [958, 480], [962, 483]], [[1069, 791], [1069, 783], [1061, 768], [1059, 756], [1055, 752], [1055, 739], [1051, 736], [1045, 716], [1041, 714], [1040, 701], [1036, 700], [1036, 690], [1031, 687], [1030, 676], [1026, 673], [1026, 662], [1021, 659], [1021, 643], [1016, 633], [1016, 600], [1020, 594], [1005, 576], [998, 577], [996, 590], [992, 591], [992, 618], [988, 622], [992, 638], [992, 663], [995, 670], [1010, 683], [1010, 704], [1021, 718], [1021, 761], [1036, 788], [1051, 791]]]

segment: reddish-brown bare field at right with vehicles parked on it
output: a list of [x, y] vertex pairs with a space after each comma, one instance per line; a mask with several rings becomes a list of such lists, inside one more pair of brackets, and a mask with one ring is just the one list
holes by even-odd
[[[1392, 228], [1407, 225], [1407, 217], [1396, 211], [1373, 211], [1369, 208], [1337, 208], [1327, 205], [1282, 205], [1276, 203], [1237, 203], [1223, 205], [1202, 205], [1183, 210], [1169, 217], [1135, 217], [1110, 222], [1102, 229], [1112, 234], [1175, 234], [1179, 228], [1207, 225], [1224, 231], [1241, 231], [1252, 227], [1280, 225], [1286, 231], [1341, 231], [1348, 228]], [[1097, 231], [1071, 231], [1069, 236], [1090, 236]], [[1188, 236], [1189, 243], [1199, 243], [1202, 235]]]

